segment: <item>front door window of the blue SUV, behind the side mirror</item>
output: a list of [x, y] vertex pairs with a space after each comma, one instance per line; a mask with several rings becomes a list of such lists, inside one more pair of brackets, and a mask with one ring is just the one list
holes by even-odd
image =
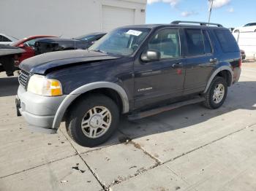
[[164, 29], [157, 32], [148, 42], [149, 50], [157, 50], [161, 58], [177, 58], [181, 55], [178, 29]]

